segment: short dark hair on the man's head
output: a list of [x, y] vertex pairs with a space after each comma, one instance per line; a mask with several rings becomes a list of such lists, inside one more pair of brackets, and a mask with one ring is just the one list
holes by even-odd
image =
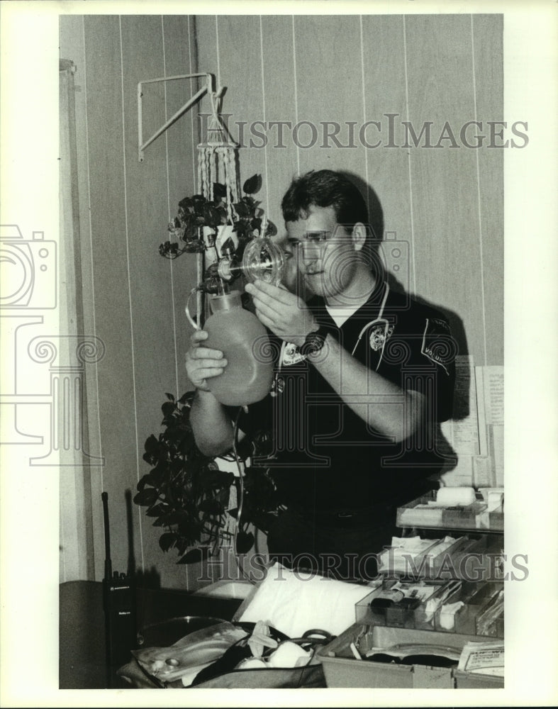
[[306, 219], [311, 206], [333, 207], [337, 223], [349, 231], [357, 222], [368, 224], [368, 209], [362, 194], [340, 172], [311, 170], [293, 180], [281, 201], [284, 220]]

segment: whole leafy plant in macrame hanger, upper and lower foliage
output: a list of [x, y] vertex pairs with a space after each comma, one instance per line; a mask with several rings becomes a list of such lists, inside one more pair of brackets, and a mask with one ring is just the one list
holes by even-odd
[[[227, 254], [242, 259], [247, 242], [260, 235], [264, 217], [254, 197], [262, 188], [262, 176], [252, 175], [240, 193], [238, 145], [228, 139], [221, 122], [220, 95], [212, 95], [211, 101], [206, 141], [198, 145], [197, 185], [201, 194], [179, 202], [177, 216], [168, 225], [170, 238], [159, 247], [160, 255], [168, 259], [205, 252], [203, 282], [194, 291], [206, 293], [218, 292], [219, 259]], [[265, 220], [265, 224], [265, 235], [277, 234], [271, 222]], [[232, 227], [237, 243], [226, 238], [219, 253], [217, 239], [224, 225]], [[179, 564], [213, 554], [223, 539], [232, 535], [231, 528], [236, 532], [238, 553], [249, 551], [254, 544], [250, 525], [267, 532], [269, 515], [277, 512], [274, 484], [264, 471], [247, 468], [240, 479], [220, 470], [215, 459], [200, 452], [189, 422], [193, 398], [193, 391], [178, 400], [167, 394], [162, 406], [163, 430], [145, 441], [143, 459], [151, 470], [138, 482], [134, 498], [136, 504], [147, 508], [145, 513], [153, 518], [153, 525], [162, 528], [160, 547], [164, 552], [175, 550]], [[245, 439], [244, 445], [252, 444]], [[233, 485], [242, 506], [239, 503], [238, 508], [230, 510]]]

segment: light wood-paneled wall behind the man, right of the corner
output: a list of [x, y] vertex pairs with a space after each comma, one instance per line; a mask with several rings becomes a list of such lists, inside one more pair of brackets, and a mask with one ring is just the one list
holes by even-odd
[[[488, 138], [479, 150], [450, 140], [405, 148], [401, 125], [411, 122], [419, 135], [431, 121], [433, 145], [446, 121], [459, 143], [467, 121], [484, 121], [488, 136], [486, 121], [502, 120], [502, 17], [199, 16], [197, 33], [199, 66], [228, 87], [229, 125], [248, 124], [242, 176], [262, 173], [262, 206], [272, 220], [282, 226], [281, 196], [295, 174], [325, 167], [355, 174], [376, 192], [385, 230], [408, 244], [403, 285], [447, 311], [474, 364], [502, 364], [503, 150], [487, 147]], [[389, 147], [390, 113], [396, 147]], [[256, 120], [300, 127], [295, 140], [284, 129], [284, 147], [275, 128], [267, 145], [250, 147]], [[324, 140], [325, 121], [355, 122], [355, 147]], [[367, 121], [381, 123], [364, 133], [379, 147], [359, 141]], [[350, 145], [348, 128], [338, 140]], [[252, 136], [255, 146], [263, 142]]]

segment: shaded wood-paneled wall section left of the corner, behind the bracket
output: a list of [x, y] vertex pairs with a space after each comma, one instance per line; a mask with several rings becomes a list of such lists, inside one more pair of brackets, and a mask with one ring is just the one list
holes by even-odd
[[[62, 16], [60, 55], [77, 65], [75, 83], [79, 203], [86, 333], [106, 347], [87, 381], [90, 446], [104, 457], [91, 469], [94, 577], [103, 576], [101, 491], [108, 492], [113, 568], [128, 555], [163, 586], [186, 586], [187, 569], [162, 554], [159, 533], [135, 493], [143, 444], [159, 432], [164, 393], [188, 389], [184, 302], [195, 277], [191, 261], [157, 252], [177, 202], [194, 188], [196, 117], [186, 116], [138, 162], [139, 81], [194, 72], [194, 21], [188, 16]], [[147, 86], [149, 137], [191, 95], [189, 81]], [[63, 501], [62, 501], [63, 510]], [[72, 554], [68, 547], [62, 553]]]

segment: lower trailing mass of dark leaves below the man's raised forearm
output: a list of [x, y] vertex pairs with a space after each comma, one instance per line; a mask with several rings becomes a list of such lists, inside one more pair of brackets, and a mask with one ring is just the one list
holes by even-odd
[[[238, 477], [218, 469], [215, 459], [196, 446], [189, 421], [193, 398], [193, 391], [178, 400], [167, 393], [163, 430], [145, 441], [143, 459], [151, 470], [138, 482], [134, 497], [135, 504], [147, 508], [153, 526], [162, 528], [159, 545], [164, 552], [176, 551], [178, 564], [199, 562], [215, 554], [223, 540], [231, 540], [230, 518], [238, 517], [238, 508], [228, 509], [231, 485], [240, 495]], [[271, 478], [261, 469], [246, 468], [242, 514], [236, 525], [239, 554], [254, 544], [250, 525], [267, 532], [276, 511]]]

